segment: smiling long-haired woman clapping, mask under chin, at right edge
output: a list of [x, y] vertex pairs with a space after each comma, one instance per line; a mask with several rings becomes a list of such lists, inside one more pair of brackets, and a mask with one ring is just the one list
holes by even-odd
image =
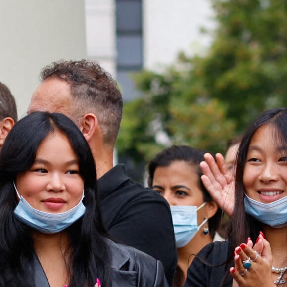
[[241, 141], [228, 234], [200, 251], [185, 287], [287, 286], [287, 108], [262, 113]]

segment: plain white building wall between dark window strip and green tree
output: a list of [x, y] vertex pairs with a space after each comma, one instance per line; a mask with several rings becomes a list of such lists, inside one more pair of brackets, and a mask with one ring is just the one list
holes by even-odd
[[212, 17], [210, 0], [143, 0], [144, 67], [174, 63], [180, 51], [202, 52], [211, 37], [200, 27], [212, 29]]

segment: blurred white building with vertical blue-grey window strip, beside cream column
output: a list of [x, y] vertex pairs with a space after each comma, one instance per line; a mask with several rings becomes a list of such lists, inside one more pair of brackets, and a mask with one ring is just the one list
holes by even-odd
[[86, 0], [87, 56], [114, 74], [124, 100], [139, 95], [131, 75], [162, 69], [180, 51], [204, 50], [214, 25], [209, 0]]

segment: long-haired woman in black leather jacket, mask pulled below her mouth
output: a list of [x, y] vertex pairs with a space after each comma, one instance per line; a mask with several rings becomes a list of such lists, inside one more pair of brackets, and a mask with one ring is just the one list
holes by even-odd
[[81, 131], [35, 112], [0, 153], [0, 286], [167, 286], [161, 263], [108, 239]]

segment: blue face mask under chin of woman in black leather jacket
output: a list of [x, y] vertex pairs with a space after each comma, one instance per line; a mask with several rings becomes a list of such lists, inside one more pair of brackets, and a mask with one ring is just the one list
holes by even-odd
[[23, 223], [43, 233], [57, 233], [81, 218], [86, 207], [83, 204], [83, 196], [80, 202], [72, 209], [62, 213], [48, 213], [33, 208], [23, 196], [19, 195], [15, 183], [13, 182], [16, 193], [20, 199], [14, 210], [15, 216]]

